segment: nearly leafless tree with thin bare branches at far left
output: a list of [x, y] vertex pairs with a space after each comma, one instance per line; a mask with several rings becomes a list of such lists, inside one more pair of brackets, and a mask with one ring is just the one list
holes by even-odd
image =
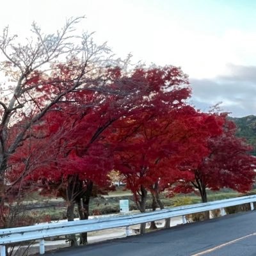
[[[106, 43], [95, 44], [92, 33], [76, 35], [81, 19], [68, 19], [55, 34], [44, 34], [33, 23], [25, 44], [17, 42], [18, 36], [10, 35], [8, 27], [3, 29], [0, 72], [6, 83], [0, 88], [0, 207], [8, 196], [6, 186], [10, 187], [6, 185], [8, 160], [29, 137], [31, 127], [79, 90], [113, 93], [104, 88], [108, 82], [102, 75], [113, 61], [111, 51]], [[71, 75], [65, 76], [63, 64], [72, 66]]]

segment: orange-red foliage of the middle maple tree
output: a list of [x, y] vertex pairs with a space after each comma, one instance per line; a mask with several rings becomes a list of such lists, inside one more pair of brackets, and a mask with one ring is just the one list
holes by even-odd
[[115, 169], [138, 202], [141, 189], [150, 190], [160, 177], [164, 180], [166, 174], [179, 171], [176, 166], [187, 136], [183, 126], [197, 114], [186, 105], [190, 88], [178, 68], [136, 70], [132, 77], [148, 84], [152, 92], [137, 102], [136, 111], [112, 125], [106, 140], [113, 147]]

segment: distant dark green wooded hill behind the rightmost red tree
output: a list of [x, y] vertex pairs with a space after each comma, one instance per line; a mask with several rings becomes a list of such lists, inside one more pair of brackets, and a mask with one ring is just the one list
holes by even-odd
[[230, 117], [230, 119], [237, 125], [237, 136], [246, 138], [254, 148], [253, 156], [256, 156], [256, 116]]

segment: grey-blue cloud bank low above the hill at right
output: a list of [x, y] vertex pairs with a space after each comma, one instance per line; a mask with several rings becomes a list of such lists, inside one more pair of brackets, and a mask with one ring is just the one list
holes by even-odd
[[203, 111], [222, 102], [223, 111], [232, 112], [232, 116], [255, 115], [256, 66], [229, 65], [227, 69], [228, 76], [191, 79], [191, 102]]

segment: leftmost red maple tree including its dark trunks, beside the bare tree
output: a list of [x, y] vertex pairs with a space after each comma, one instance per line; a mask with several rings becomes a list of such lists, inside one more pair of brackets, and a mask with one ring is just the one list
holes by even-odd
[[[60, 70], [63, 72], [61, 77], [68, 76], [70, 72], [65, 66]], [[152, 79], [152, 74], [158, 73], [161, 77], [163, 74], [170, 76], [172, 72], [173, 87], [182, 78], [186, 81], [184, 74], [177, 70], [179, 68], [175, 67], [147, 72], [136, 69], [127, 76], [122, 74], [120, 68], [108, 68], [104, 75], [104, 86], [97, 84], [102, 92], [88, 88], [68, 93], [45, 113], [40, 122], [33, 125], [30, 140], [24, 141], [9, 161], [12, 163], [12, 172], [9, 172], [8, 177], [22, 176], [30, 182], [30, 186], [32, 183], [40, 186], [42, 193], [54, 192], [63, 196], [68, 202], [68, 220], [74, 219], [75, 204], [78, 205], [80, 218], [88, 218], [93, 184], [100, 189], [108, 188], [107, 174], [113, 169], [110, 143], [105, 139], [112, 132], [108, 128], [117, 120], [124, 120], [131, 115], [140, 116], [152, 109], [152, 102], [157, 98], [155, 95], [158, 96], [163, 90], [163, 86]], [[95, 86], [97, 81], [93, 80], [92, 83]], [[48, 88], [43, 86], [40, 90], [47, 95]], [[179, 95], [180, 91], [189, 93], [184, 88], [174, 89], [173, 93]], [[177, 100], [179, 97], [176, 97]], [[166, 101], [162, 98], [162, 109], [165, 104]], [[45, 157], [45, 154], [51, 157]], [[29, 159], [30, 164], [15, 164], [15, 161], [18, 163], [22, 159]], [[14, 180], [10, 178], [11, 182], [15, 182]], [[15, 182], [17, 186], [18, 183]], [[83, 242], [84, 239], [81, 241], [86, 243]]]

